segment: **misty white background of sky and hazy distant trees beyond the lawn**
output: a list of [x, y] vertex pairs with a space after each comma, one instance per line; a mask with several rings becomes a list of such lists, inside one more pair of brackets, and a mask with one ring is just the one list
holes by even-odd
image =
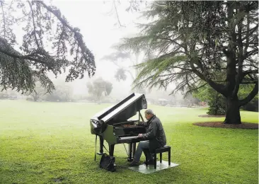
[[[127, 74], [125, 81], [117, 81], [115, 73], [118, 67], [113, 62], [102, 58], [115, 52], [113, 46], [119, 43], [122, 38], [132, 37], [132, 35], [139, 33], [136, 23], [147, 21], [140, 18], [140, 16], [141, 11], [148, 4], [140, 4], [140, 11], [125, 11], [129, 7], [129, 2], [127, 1], [116, 1], [116, 7], [114, 1], [51, 1], [50, 3], [59, 8], [62, 15], [67, 18], [71, 25], [81, 30], [84, 42], [86, 42], [86, 46], [91, 50], [96, 60], [96, 74], [91, 78], [86, 74], [83, 79], [75, 79], [72, 82], [65, 83], [67, 73], [59, 74], [57, 79], [55, 79], [54, 74], [50, 73], [50, 79], [54, 82], [57, 91], [59, 91], [57, 96], [65, 96], [64, 98], [67, 99], [65, 101], [96, 102], [96, 98], [91, 97], [93, 94], [89, 93], [87, 83], [93, 84], [96, 79], [100, 78], [110, 82], [112, 89], [106, 96], [105, 93], [102, 93], [98, 103], [117, 103], [134, 92], [132, 91], [132, 77]], [[117, 13], [115, 8], [117, 8]], [[17, 40], [22, 40], [22, 36], [19, 38], [19, 35], [23, 35], [21, 34], [21, 29], [17, 27], [15, 33]], [[132, 55], [132, 58], [134, 59], [134, 55]], [[139, 57], [139, 62], [143, 62], [144, 59], [144, 54], [142, 53]], [[132, 61], [120, 59], [118, 62], [120, 62], [120, 66], [134, 73]], [[171, 84], [166, 91], [164, 89], [152, 88], [149, 90], [145, 88], [143, 93], [145, 93], [148, 103], [160, 105], [190, 106], [193, 103], [199, 102], [199, 100], [192, 98], [192, 96], [183, 98], [183, 95], [180, 93], [169, 96], [174, 87], [175, 85]], [[49, 94], [44, 95], [44, 91], [41, 91], [41, 93], [38, 91], [38, 93], [39, 97], [37, 100], [59, 101], [59, 99], [53, 96], [50, 98]], [[33, 100], [29, 94], [21, 96], [16, 91], [11, 90], [1, 92], [1, 96]]]

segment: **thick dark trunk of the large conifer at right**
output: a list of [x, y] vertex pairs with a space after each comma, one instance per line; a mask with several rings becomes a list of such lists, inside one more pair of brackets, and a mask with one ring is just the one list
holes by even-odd
[[226, 98], [226, 118], [224, 124], [241, 124], [238, 98]]

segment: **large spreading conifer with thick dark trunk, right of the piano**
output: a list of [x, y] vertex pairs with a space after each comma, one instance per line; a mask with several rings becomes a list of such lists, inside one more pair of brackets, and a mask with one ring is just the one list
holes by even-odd
[[[154, 19], [121, 44], [156, 53], [137, 65], [134, 84], [166, 88], [179, 81], [175, 91], [187, 93], [208, 84], [226, 98], [224, 123], [241, 124], [240, 107], [258, 93], [258, 1], [157, 1], [144, 16]], [[246, 84], [253, 90], [240, 100]]]

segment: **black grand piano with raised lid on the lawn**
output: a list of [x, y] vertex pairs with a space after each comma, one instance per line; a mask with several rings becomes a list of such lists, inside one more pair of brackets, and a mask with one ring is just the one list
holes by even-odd
[[[140, 110], [146, 109], [147, 103], [144, 94], [132, 93], [130, 96], [96, 114], [90, 120], [91, 134], [96, 134], [100, 139], [100, 153], [103, 154], [103, 140], [108, 142], [109, 154], [113, 156], [115, 144], [129, 144], [128, 161], [136, 151], [136, 142], [142, 138], [138, 134], [146, 133], [146, 128], [135, 126], [134, 122], [144, 122]], [[129, 120], [134, 115], [138, 115], [138, 120]]]

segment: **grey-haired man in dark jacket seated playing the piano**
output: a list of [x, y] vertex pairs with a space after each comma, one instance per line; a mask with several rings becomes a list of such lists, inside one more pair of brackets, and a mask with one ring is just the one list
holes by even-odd
[[137, 125], [146, 127], [146, 134], [138, 135], [138, 137], [142, 137], [142, 139], [146, 141], [139, 142], [133, 161], [129, 163], [129, 166], [139, 165], [139, 159], [142, 156], [142, 151], [144, 151], [144, 154], [148, 160], [147, 163], [145, 163], [154, 164], [154, 159], [151, 153], [154, 153], [155, 149], [166, 145], [166, 134], [163, 131], [163, 126], [159, 118], [154, 115], [152, 110], [146, 110], [145, 117], [147, 122], [139, 122]]

